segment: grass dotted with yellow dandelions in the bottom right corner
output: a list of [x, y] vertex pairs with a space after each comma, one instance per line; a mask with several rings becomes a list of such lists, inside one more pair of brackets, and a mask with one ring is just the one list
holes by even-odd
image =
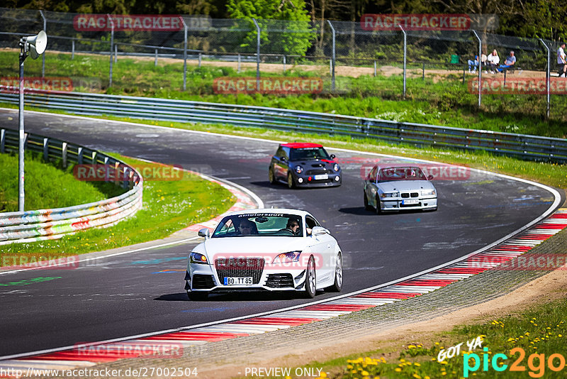
[[[463, 378], [464, 363], [474, 367], [476, 354], [483, 360], [487, 354], [488, 369], [483, 371], [483, 363], [476, 371], [469, 370], [468, 378], [565, 378], [565, 368], [554, 372], [547, 366], [549, 356], [561, 354], [564, 358], [567, 344], [567, 301], [558, 300], [533, 307], [520, 315], [495, 319], [479, 324], [456, 326], [452, 331], [444, 331], [437, 341], [407, 341], [403, 348], [378, 349], [361, 354], [334, 358], [322, 363], [310, 363], [311, 368], [322, 368], [330, 373], [329, 378]], [[472, 341], [481, 336], [482, 346], [468, 351], [466, 341]], [[438, 361], [439, 353], [447, 352], [451, 346], [463, 345], [460, 354], [453, 358], [443, 358]], [[488, 351], [483, 351], [488, 348]], [[514, 348], [523, 349], [525, 356], [520, 360], [520, 352]], [[498, 365], [507, 365], [507, 369], [498, 372], [491, 364], [495, 354], [505, 354], [507, 358], [498, 358]], [[471, 356], [464, 356], [471, 354]], [[545, 361], [532, 354], [544, 354]], [[517, 361], [524, 367], [524, 372], [510, 371], [512, 363]], [[531, 365], [530, 365], [531, 363]], [[559, 358], [554, 359], [554, 365], [559, 365]], [[542, 367], [543, 365], [544, 367]], [[293, 372], [293, 370], [292, 370]], [[324, 377], [323, 377], [324, 378]]]

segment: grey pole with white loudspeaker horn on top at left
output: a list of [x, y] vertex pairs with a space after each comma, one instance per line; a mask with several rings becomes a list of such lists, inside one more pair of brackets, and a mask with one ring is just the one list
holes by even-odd
[[33, 59], [38, 59], [47, 47], [47, 34], [40, 31], [38, 35], [33, 37], [22, 37], [20, 39], [20, 104], [18, 111], [19, 123], [19, 149], [18, 149], [18, 211], [23, 212], [24, 192], [23, 192], [23, 148], [25, 142], [25, 134], [23, 130], [23, 61], [26, 60], [28, 54]]

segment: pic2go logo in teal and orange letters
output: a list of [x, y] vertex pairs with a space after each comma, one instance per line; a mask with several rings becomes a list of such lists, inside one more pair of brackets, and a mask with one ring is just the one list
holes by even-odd
[[[488, 371], [490, 369], [490, 366], [492, 366], [492, 369], [495, 371], [504, 371], [508, 368], [507, 364], [502, 363], [499, 366], [498, 363], [499, 360], [505, 361], [508, 359], [506, 354], [495, 354], [492, 359], [490, 359], [487, 353], [488, 348], [483, 348], [483, 351], [485, 352], [483, 353], [482, 359], [483, 371]], [[526, 368], [525, 366], [522, 366], [522, 361], [524, 361], [526, 352], [523, 348], [512, 348], [512, 350], [510, 350], [510, 356], [514, 356], [516, 353], [520, 353], [520, 356], [518, 356], [514, 363], [510, 365], [510, 371], [525, 371]], [[473, 358], [474, 360], [473, 366], [471, 366], [471, 358]], [[549, 356], [546, 361], [545, 354], [533, 353], [527, 358], [527, 366], [529, 368], [528, 375], [532, 378], [541, 378], [545, 373], [546, 363], [549, 370], [558, 372], [565, 368], [565, 357], [563, 357], [561, 354], [554, 353], [551, 354], [551, 356]], [[556, 363], [558, 364], [556, 365]], [[479, 368], [481, 368], [481, 358], [478, 356], [478, 354], [465, 353], [463, 356], [463, 376], [465, 378], [468, 378], [469, 372], [475, 372]]]

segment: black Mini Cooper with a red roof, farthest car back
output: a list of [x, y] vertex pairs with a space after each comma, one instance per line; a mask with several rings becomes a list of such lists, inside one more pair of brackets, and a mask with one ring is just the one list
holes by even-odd
[[283, 143], [271, 157], [270, 183], [287, 182], [288, 187], [337, 187], [341, 167], [318, 143]]

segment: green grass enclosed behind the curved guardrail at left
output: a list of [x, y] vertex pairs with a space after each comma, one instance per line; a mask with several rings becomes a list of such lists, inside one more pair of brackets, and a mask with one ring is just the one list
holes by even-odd
[[[52, 209], [99, 202], [124, 192], [110, 183], [82, 182], [73, 166], [58, 169], [40, 158], [25, 157], [25, 209]], [[0, 212], [18, 211], [18, 157], [0, 154]]]

